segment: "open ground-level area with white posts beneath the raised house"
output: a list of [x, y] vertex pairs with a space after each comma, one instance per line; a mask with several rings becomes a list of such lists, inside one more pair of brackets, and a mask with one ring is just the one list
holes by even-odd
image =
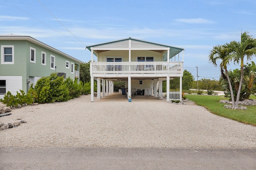
[[[143, 78], [143, 79], [142, 79]], [[122, 77], [122, 78], [95, 78], [97, 81], [97, 99], [108, 99], [112, 98], [109, 97], [112, 94], [120, 94], [120, 98], [124, 98], [125, 100], [128, 100], [129, 98], [132, 99], [163, 99], [166, 96], [166, 102], [169, 102], [170, 100], [182, 100], [182, 86], [180, 86], [180, 90], [177, 91], [170, 91], [170, 80], [172, 80], [173, 77]], [[166, 80], [166, 93], [163, 93], [163, 81]], [[126, 82], [125, 86], [125, 95], [122, 95], [122, 93], [116, 93], [114, 92], [114, 81], [123, 81]], [[146, 88], [138, 89], [134, 85], [134, 81], [147, 81], [149, 86]], [[180, 84], [182, 84], [182, 77], [180, 77]], [[91, 82], [91, 94], [94, 92], [93, 88], [93, 82]], [[138, 90], [143, 90], [143, 94], [139, 95]], [[115, 95], [115, 96], [116, 96]], [[143, 96], [143, 97], [142, 97]], [[144, 97], [145, 96], [145, 97]], [[94, 95], [91, 96], [91, 102], [94, 102]]]

